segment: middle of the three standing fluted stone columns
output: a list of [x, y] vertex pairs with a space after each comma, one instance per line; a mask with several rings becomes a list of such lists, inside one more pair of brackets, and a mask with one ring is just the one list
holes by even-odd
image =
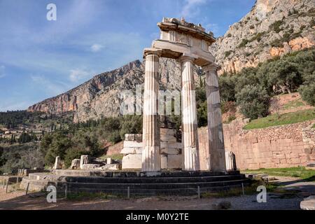
[[193, 77], [193, 57], [182, 56], [181, 62], [181, 108], [183, 170], [200, 170], [197, 134], [197, 108]]

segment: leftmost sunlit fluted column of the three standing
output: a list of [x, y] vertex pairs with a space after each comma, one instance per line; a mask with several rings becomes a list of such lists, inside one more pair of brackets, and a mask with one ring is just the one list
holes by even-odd
[[161, 169], [160, 127], [158, 117], [159, 50], [144, 52], [146, 58], [144, 80], [144, 123], [142, 171], [157, 172]]

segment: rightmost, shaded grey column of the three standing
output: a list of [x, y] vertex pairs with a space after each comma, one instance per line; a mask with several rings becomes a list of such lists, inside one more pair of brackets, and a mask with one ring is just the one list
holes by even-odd
[[206, 92], [208, 111], [209, 168], [213, 171], [225, 171], [225, 148], [223, 125], [218, 88], [218, 66], [210, 64], [202, 69], [206, 72]]

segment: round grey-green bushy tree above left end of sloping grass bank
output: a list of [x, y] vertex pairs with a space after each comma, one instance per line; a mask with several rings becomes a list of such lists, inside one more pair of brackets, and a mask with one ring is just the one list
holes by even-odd
[[246, 85], [236, 94], [237, 105], [246, 118], [256, 119], [265, 117], [269, 109], [269, 95], [260, 86]]

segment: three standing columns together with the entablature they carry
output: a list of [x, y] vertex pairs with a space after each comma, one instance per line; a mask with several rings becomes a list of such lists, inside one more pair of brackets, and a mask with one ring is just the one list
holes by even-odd
[[206, 73], [207, 113], [209, 133], [209, 169], [225, 171], [225, 149], [218, 90], [218, 65], [209, 52], [215, 42], [211, 32], [206, 33], [201, 25], [184, 19], [163, 18], [158, 23], [160, 39], [153, 41], [151, 48], [144, 49], [146, 59], [144, 83], [144, 127], [142, 171], [157, 172], [161, 169], [160, 127], [158, 114], [159, 59], [167, 57], [181, 63], [181, 114], [182, 114], [182, 169], [200, 170], [197, 139], [197, 109], [193, 66], [202, 66]]

